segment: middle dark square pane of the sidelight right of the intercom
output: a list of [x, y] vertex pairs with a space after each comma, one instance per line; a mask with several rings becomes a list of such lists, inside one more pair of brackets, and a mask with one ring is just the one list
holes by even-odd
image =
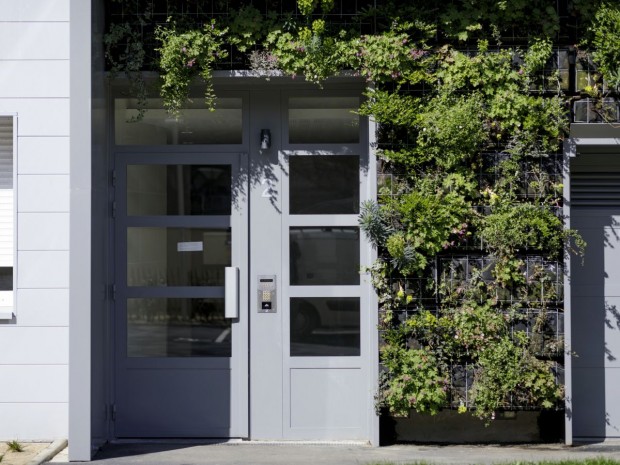
[[290, 263], [292, 285], [359, 284], [359, 228], [291, 228]]

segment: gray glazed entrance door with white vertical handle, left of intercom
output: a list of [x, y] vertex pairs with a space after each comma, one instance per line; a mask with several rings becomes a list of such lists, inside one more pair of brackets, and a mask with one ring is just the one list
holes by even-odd
[[116, 437], [248, 435], [246, 162], [116, 155]]

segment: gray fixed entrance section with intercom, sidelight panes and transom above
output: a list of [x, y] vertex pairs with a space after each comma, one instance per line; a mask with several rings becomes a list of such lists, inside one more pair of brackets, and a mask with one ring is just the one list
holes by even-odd
[[[348, 84], [251, 95], [250, 143], [272, 134], [250, 147], [254, 439], [372, 440], [377, 312], [358, 216], [374, 166], [360, 94]], [[263, 294], [265, 279], [277, 294]]]

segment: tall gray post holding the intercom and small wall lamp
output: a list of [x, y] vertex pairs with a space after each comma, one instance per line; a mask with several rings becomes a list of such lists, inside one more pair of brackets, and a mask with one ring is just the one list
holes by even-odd
[[[281, 141], [280, 92], [264, 90], [250, 96], [250, 296], [258, 292], [257, 277], [276, 275], [282, 283], [282, 184], [278, 165]], [[261, 129], [271, 130], [272, 145], [260, 149]], [[276, 308], [282, 309], [278, 290]], [[258, 313], [250, 299], [250, 434], [252, 439], [282, 438], [282, 310]]]

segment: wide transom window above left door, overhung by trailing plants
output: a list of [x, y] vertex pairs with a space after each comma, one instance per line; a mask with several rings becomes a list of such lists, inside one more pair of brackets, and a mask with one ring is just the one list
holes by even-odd
[[243, 118], [241, 98], [218, 98], [209, 111], [202, 99], [188, 101], [178, 118], [170, 116], [162, 99], [147, 99], [140, 116], [136, 99], [114, 100], [117, 145], [241, 144]]

